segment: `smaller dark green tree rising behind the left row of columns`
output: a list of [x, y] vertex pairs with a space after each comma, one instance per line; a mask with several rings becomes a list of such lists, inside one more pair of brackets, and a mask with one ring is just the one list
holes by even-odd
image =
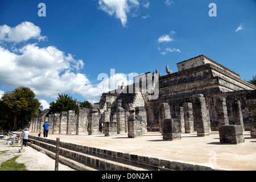
[[51, 113], [60, 113], [61, 111], [75, 110], [79, 109], [79, 106], [76, 105], [76, 99], [73, 100], [72, 97], [68, 94], [59, 94], [56, 102], [51, 102], [49, 107], [49, 112]]

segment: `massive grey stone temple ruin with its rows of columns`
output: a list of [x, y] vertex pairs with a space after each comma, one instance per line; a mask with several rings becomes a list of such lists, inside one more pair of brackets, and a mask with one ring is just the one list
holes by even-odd
[[134, 84], [102, 93], [100, 102], [77, 115], [46, 110], [31, 121], [30, 131], [42, 131], [47, 119], [49, 134], [97, 135], [102, 122], [106, 137], [160, 131], [163, 140], [179, 140], [182, 132], [204, 137], [220, 131], [220, 142], [241, 143], [244, 130], [256, 137], [256, 86], [204, 55], [177, 68], [176, 73], [167, 66], [166, 75], [156, 69], [135, 77]]

